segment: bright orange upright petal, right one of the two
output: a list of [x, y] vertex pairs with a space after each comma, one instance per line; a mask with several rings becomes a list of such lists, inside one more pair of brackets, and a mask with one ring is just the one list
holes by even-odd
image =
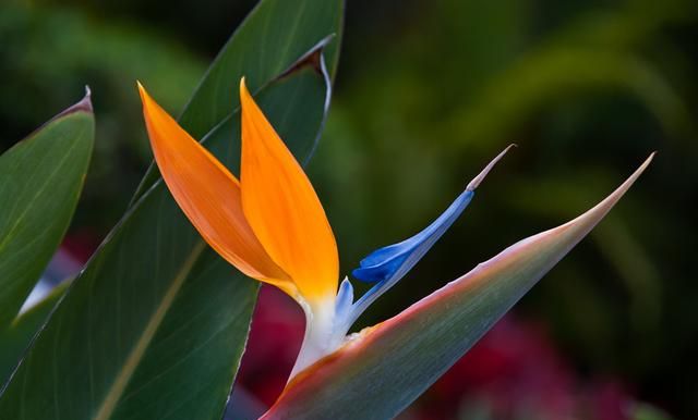
[[335, 236], [301, 165], [240, 82], [242, 209], [272, 259], [308, 300], [334, 296]]

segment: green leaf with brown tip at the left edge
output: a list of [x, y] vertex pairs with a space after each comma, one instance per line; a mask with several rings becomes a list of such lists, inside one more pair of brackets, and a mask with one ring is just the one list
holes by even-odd
[[0, 157], [0, 329], [17, 316], [65, 234], [94, 127], [87, 95]]

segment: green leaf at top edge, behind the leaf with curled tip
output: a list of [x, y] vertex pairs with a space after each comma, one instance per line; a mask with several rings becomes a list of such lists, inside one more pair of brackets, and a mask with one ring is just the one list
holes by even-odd
[[[206, 72], [179, 119], [180, 125], [192, 137], [201, 138], [240, 107], [241, 77], [245, 76], [251, 92], [257, 91], [294, 65], [301, 55], [325, 44], [328, 36], [338, 37], [342, 18], [344, 0], [260, 1]], [[339, 59], [338, 46], [338, 41], [326, 45], [328, 73], [333, 76]], [[134, 201], [158, 176], [152, 164]]]

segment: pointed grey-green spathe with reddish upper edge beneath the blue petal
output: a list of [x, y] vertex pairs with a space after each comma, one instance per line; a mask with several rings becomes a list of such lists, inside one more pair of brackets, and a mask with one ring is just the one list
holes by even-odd
[[448, 370], [611, 210], [650, 163], [562, 226], [526, 238], [299, 373], [262, 419], [389, 419]]

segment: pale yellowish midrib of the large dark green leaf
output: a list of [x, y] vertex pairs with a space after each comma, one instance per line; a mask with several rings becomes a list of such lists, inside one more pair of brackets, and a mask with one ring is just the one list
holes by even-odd
[[107, 420], [113, 413], [117, 407], [117, 404], [119, 403], [119, 399], [121, 399], [121, 396], [123, 395], [123, 392], [125, 391], [127, 385], [131, 380], [131, 376], [133, 376], [133, 373], [135, 372], [141, 360], [143, 359], [143, 356], [145, 355], [146, 349], [151, 345], [151, 342], [153, 342], [153, 338], [155, 337], [155, 334], [157, 333], [158, 328], [163, 323], [165, 316], [167, 314], [170, 307], [172, 306], [172, 302], [174, 301], [177, 294], [179, 293], [180, 288], [184, 284], [184, 280], [186, 280], [189, 274], [192, 272], [192, 269], [194, 268], [196, 260], [202, 255], [204, 249], [206, 249], [206, 244], [203, 240], [198, 240], [197, 244], [192, 249], [192, 252], [189, 255], [189, 257], [180, 268], [179, 272], [174, 276], [173, 282], [170, 284], [167, 292], [163, 296], [163, 300], [160, 301], [160, 305], [157, 307], [155, 312], [153, 312], [153, 314], [151, 316], [151, 319], [148, 320], [145, 329], [143, 330], [143, 333], [139, 337], [139, 341], [136, 342], [135, 346], [133, 346], [133, 349], [129, 354], [129, 357], [127, 358], [125, 362], [121, 367], [113, 383], [109, 387], [107, 395], [105, 396], [101, 405], [99, 406], [99, 410], [93, 418], [94, 420]]

